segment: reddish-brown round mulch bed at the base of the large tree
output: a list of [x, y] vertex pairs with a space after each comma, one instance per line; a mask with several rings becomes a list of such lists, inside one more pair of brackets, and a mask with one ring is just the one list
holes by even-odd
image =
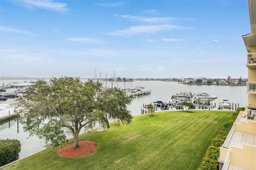
[[91, 154], [97, 148], [97, 143], [91, 140], [82, 140], [78, 143], [78, 148], [73, 148], [74, 143], [70, 143], [62, 148], [59, 148], [57, 154], [66, 158], [79, 158]]

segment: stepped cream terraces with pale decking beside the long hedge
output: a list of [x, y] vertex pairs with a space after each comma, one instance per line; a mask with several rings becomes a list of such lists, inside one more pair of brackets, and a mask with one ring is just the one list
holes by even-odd
[[249, 105], [239, 113], [220, 148], [222, 170], [256, 170], [256, 110]]

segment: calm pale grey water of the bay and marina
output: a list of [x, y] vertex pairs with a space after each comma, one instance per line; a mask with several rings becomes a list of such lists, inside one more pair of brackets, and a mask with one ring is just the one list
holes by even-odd
[[[0, 80], [0, 84], [3, 82], [22, 82], [29, 80]], [[124, 87], [123, 82], [114, 83], [115, 86]], [[188, 84], [179, 84], [177, 82], [164, 82], [164, 81], [134, 81], [131, 84], [126, 83], [126, 88], [142, 86], [146, 89], [151, 89], [151, 95], [139, 96], [133, 99], [129, 109], [132, 115], [140, 114], [140, 106], [142, 104], [153, 103], [157, 99], [163, 101], [169, 101], [172, 95], [178, 92], [191, 91], [193, 93], [207, 92], [211, 95], [217, 96], [218, 99], [213, 102], [219, 106], [219, 102], [223, 99], [228, 99], [230, 103], [239, 103], [239, 105], [245, 106], [247, 101], [247, 95], [245, 94], [245, 86], [197, 86]], [[0, 123], [0, 138], [1, 139], [18, 139], [21, 142], [20, 158], [33, 154], [43, 149], [43, 140], [39, 140], [36, 137], [29, 137], [29, 134], [23, 132], [22, 123], [18, 122], [17, 119]]]

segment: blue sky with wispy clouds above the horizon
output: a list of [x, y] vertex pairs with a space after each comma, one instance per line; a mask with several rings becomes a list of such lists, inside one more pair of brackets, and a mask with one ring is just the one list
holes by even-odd
[[247, 78], [246, 0], [0, 1], [0, 76]]

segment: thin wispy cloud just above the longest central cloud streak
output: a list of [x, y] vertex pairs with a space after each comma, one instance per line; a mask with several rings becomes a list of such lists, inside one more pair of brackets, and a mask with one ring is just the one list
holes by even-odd
[[122, 18], [131, 20], [131, 21], [137, 21], [137, 22], [149, 22], [149, 23], [157, 23], [157, 22], [170, 22], [173, 20], [177, 20], [176, 18], [171, 17], [163, 17], [163, 18], [157, 18], [157, 17], [145, 17], [145, 16], [133, 16], [133, 15], [116, 15], [121, 16]]

